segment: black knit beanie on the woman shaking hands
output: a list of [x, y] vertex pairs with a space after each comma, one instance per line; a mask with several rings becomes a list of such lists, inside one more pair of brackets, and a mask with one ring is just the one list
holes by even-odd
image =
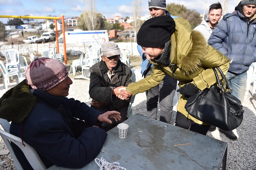
[[175, 31], [175, 22], [169, 15], [146, 20], [137, 34], [137, 44], [142, 47], [163, 47]]

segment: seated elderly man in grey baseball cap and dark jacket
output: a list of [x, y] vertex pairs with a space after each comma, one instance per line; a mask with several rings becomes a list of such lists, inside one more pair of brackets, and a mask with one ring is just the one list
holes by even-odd
[[131, 83], [132, 71], [120, 61], [120, 49], [115, 42], [109, 41], [102, 44], [101, 52], [102, 60], [90, 68], [89, 95], [92, 98], [90, 104], [98, 111], [120, 112], [122, 117], [120, 121], [115, 122], [111, 119], [112, 124], [102, 123], [108, 131], [126, 120], [130, 99], [121, 100], [117, 96], [120, 86]]

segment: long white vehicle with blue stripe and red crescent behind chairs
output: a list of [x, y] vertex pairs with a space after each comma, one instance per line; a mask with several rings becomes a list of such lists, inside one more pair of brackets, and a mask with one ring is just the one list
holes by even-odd
[[[66, 44], [70, 43], [105, 43], [108, 42], [107, 30], [94, 31], [65, 31]], [[59, 43], [63, 43], [63, 34], [58, 37]], [[56, 43], [57, 41], [55, 41]]]

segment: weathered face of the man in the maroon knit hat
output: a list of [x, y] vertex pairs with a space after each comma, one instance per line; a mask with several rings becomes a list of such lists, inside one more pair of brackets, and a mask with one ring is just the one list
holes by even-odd
[[55, 87], [51, 88], [50, 90], [46, 91], [53, 96], [59, 97], [66, 97], [69, 91], [69, 85], [72, 84], [72, 80], [67, 76], [65, 80], [58, 83]]

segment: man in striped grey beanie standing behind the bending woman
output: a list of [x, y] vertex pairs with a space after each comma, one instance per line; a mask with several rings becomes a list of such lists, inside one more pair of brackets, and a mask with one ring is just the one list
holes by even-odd
[[[170, 15], [168, 11], [166, 11], [166, 3], [165, 0], [149, 0], [148, 1], [148, 9], [150, 11], [150, 15], [152, 17], [159, 17], [164, 15]], [[146, 41], [146, 38], [145, 38]], [[148, 54], [142, 53], [142, 48], [140, 45], [137, 46], [137, 49], [141, 55], [142, 63], [141, 63], [141, 74], [144, 77], [147, 77], [151, 74], [153, 64], [149, 62]], [[168, 84], [168, 86], [166, 85]], [[173, 79], [169, 75], [166, 75], [163, 81], [153, 87], [150, 90], [146, 91], [147, 96], [147, 114], [151, 119], [157, 118], [158, 111], [158, 99], [160, 106], [160, 121], [165, 123], [170, 123], [173, 113], [173, 97], [175, 94], [177, 86], [177, 80]]]

